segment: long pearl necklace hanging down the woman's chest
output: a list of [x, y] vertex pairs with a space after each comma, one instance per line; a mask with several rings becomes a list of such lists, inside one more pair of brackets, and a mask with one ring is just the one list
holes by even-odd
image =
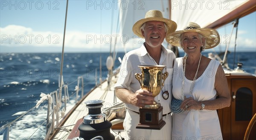
[[[201, 56], [202, 54], [200, 55], [200, 59], [199, 59], [199, 63], [198, 63], [198, 68], [195, 72], [195, 77], [193, 79], [193, 83], [191, 85], [191, 88], [190, 88], [190, 92], [189, 92], [189, 95], [192, 95], [192, 92], [194, 90], [194, 87], [195, 87], [195, 80], [196, 80], [196, 77], [197, 77], [197, 74], [198, 74], [198, 69], [199, 69], [199, 66], [200, 66], [200, 61], [201, 61]], [[183, 62], [184, 63], [184, 73], [183, 73], [183, 78], [182, 78], [182, 88], [181, 88], [181, 94], [182, 94], [182, 101], [184, 100], [184, 84], [185, 84], [185, 73], [186, 73], [186, 59], [187, 58], [184, 58]]]

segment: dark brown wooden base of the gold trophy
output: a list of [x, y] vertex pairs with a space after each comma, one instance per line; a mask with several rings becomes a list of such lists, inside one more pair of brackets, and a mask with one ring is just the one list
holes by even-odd
[[141, 108], [139, 111], [140, 124], [136, 126], [137, 129], [160, 130], [166, 124], [163, 120], [163, 106], [160, 106], [157, 109]]

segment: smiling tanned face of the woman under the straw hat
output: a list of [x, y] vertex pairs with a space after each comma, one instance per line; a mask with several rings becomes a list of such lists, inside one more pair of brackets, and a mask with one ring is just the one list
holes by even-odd
[[199, 36], [197, 32], [185, 32], [182, 34], [181, 46], [185, 53], [201, 53], [201, 45], [203, 45], [204, 38]]

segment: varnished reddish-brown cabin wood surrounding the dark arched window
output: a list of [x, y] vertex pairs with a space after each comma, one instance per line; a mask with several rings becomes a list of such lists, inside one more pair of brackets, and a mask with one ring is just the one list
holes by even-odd
[[[253, 92], [253, 115], [256, 113], [256, 77], [255, 76], [227, 76], [228, 87], [230, 90], [230, 96], [232, 93], [241, 87], [247, 87]], [[231, 99], [232, 100], [232, 99]], [[218, 109], [218, 117], [221, 124], [221, 132], [224, 140], [242, 140], [244, 138], [245, 131], [250, 121], [236, 121], [235, 110], [236, 99], [231, 101], [230, 107], [224, 109]], [[252, 116], [253, 117], [253, 116]], [[256, 139], [256, 126], [253, 127], [249, 140]]]

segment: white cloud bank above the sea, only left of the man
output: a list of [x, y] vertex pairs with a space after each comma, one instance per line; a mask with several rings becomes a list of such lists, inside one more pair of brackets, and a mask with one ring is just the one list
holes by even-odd
[[[6, 47], [37, 47], [42, 49], [44, 47], [58, 47], [61, 50], [63, 43], [63, 33], [52, 31], [34, 31], [32, 28], [27, 28], [20, 25], [8, 25], [0, 28], [1, 46]], [[141, 41], [141, 39], [128, 38], [119, 34], [98, 34], [86, 33], [83, 31], [66, 31], [65, 48], [68, 50], [93, 49], [95, 51], [109, 50], [110, 44], [112, 46], [116, 43], [119, 50], [122, 50], [125, 44], [128, 50], [134, 48], [134, 43]], [[141, 44], [140, 44], [141, 45]], [[120, 49], [121, 48], [121, 49]]]

